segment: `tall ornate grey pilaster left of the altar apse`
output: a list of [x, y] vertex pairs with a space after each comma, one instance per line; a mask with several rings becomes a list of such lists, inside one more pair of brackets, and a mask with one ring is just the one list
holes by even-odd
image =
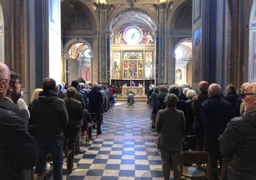
[[99, 3], [99, 83], [107, 83], [107, 3]]

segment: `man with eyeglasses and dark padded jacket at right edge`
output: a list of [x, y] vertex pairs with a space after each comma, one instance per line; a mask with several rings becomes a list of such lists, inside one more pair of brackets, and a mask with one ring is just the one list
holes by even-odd
[[228, 180], [256, 179], [256, 82], [242, 94], [245, 113], [228, 124], [220, 139], [220, 151], [228, 157]]

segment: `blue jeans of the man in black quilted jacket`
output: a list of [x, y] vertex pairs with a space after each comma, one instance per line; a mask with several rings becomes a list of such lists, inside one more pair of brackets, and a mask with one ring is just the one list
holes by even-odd
[[54, 180], [62, 180], [62, 163], [63, 163], [63, 138], [59, 139], [38, 139], [37, 147], [39, 150], [39, 160], [35, 172], [44, 173], [44, 167], [47, 160], [47, 154], [52, 154], [53, 177]]

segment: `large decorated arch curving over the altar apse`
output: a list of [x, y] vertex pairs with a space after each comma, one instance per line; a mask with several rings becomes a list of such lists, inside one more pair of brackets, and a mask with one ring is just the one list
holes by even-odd
[[[109, 17], [108, 21], [107, 21], [107, 30], [111, 31], [112, 30], [112, 21], [114, 20], [115, 16], [118, 15], [118, 13], [122, 12], [125, 9], [129, 9], [131, 8], [131, 5], [129, 4], [125, 4], [122, 5], [121, 7], [117, 8]], [[144, 5], [140, 5], [140, 4], [134, 4], [133, 8], [138, 8], [141, 10], [144, 10], [145, 12], [147, 12], [150, 17], [152, 18], [153, 22], [154, 22], [154, 30], [157, 30], [159, 28], [159, 22], [158, 22], [158, 18], [157, 16], [152, 12], [152, 10], [150, 10], [149, 8], [147, 8]]]

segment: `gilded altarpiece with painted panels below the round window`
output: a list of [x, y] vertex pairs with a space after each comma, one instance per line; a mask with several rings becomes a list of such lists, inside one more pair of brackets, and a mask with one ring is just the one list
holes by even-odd
[[123, 79], [143, 79], [143, 51], [123, 51]]

